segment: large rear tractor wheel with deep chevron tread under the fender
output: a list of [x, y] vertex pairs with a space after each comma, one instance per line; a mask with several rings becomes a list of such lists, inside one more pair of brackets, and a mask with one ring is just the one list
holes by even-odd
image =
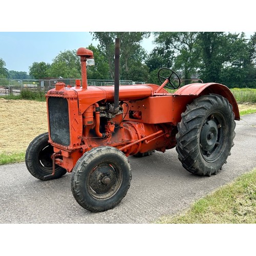
[[204, 95], [187, 105], [181, 116], [176, 151], [182, 166], [200, 176], [217, 174], [233, 146], [232, 105], [220, 95]]

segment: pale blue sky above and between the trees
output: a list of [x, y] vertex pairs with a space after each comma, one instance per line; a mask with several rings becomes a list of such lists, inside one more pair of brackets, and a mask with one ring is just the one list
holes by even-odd
[[[247, 32], [249, 36], [253, 32]], [[149, 53], [153, 50], [153, 35], [142, 41]], [[29, 73], [33, 62], [52, 63], [61, 51], [77, 50], [98, 41], [89, 32], [0, 32], [0, 58], [8, 70]]]

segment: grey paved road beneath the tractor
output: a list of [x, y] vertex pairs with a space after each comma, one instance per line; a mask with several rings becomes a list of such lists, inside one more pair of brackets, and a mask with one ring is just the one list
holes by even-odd
[[256, 167], [256, 114], [237, 122], [231, 156], [211, 177], [188, 173], [175, 148], [150, 157], [130, 157], [131, 187], [114, 209], [93, 214], [71, 192], [71, 174], [58, 180], [35, 179], [25, 163], [0, 166], [0, 223], [152, 223], [177, 214], [218, 187]]

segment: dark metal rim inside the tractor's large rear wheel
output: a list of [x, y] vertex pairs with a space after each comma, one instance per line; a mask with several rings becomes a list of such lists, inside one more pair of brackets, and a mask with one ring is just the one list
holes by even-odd
[[200, 150], [207, 162], [215, 162], [225, 144], [226, 120], [222, 112], [211, 113], [200, 132]]

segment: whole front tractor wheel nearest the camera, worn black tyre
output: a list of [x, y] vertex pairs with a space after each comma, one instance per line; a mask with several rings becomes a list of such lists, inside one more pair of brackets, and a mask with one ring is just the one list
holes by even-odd
[[71, 190], [83, 208], [105, 211], [121, 202], [131, 179], [127, 157], [115, 147], [99, 146], [77, 161], [72, 172]]

